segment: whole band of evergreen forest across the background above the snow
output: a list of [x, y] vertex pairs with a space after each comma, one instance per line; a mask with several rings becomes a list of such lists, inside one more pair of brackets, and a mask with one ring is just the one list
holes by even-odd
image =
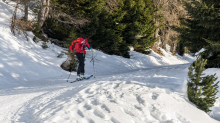
[[[13, 33], [13, 29], [32, 30], [44, 41], [47, 40], [42, 36], [47, 34], [65, 47], [77, 37], [86, 35], [94, 49], [125, 58], [130, 57], [128, 46], [133, 46], [137, 52], [150, 54], [151, 49], [155, 51], [153, 47], [165, 49], [166, 42], [173, 42], [172, 54], [195, 54], [203, 49], [199, 55], [207, 59], [205, 68], [219, 68], [220, 2], [180, 0], [178, 4], [170, 3], [166, 9], [165, 4], [169, 3], [166, 0], [19, 0], [11, 28]], [[22, 18], [16, 16], [18, 5], [24, 6]], [[180, 6], [183, 6], [185, 14], [174, 13], [181, 9]], [[29, 9], [36, 14], [32, 22], [27, 19]], [[168, 21], [167, 17], [171, 16], [167, 14], [176, 14], [178, 20], [175, 18], [175, 21], [180, 24], [170, 24], [172, 18]], [[178, 35], [169, 37], [174, 33], [171, 30]]]

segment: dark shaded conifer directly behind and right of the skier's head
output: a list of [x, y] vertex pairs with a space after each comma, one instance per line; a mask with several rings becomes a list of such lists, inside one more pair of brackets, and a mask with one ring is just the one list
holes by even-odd
[[121, 36], [125, 26], [120, 23], [124, 16], [120, 12], [120, 8], [115, 8], [114, 12], [103, 10], [96, 19], [83, 28], [82, 33], [89, 35], [94, 48], [111, 55], [129, 58], [129, 48]]

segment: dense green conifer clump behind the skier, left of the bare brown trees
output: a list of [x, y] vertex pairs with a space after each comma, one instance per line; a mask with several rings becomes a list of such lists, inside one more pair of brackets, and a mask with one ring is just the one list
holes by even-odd
[[[93, 48], [127, 58], [128, 46], [146, 53], [157, 41], [154, 23], [160, 17], [151, 0], [52, 0], [52, 10], [64, 16], [49, 16], [44, 29], [59, 40], [85, 34]], [[70, 23], [69, 16], [86, 21]]]

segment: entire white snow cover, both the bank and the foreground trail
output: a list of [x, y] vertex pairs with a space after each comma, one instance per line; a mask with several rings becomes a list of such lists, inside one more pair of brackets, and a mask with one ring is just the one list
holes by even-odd
[[[125, 59], [92, 50], [94, 74], [90, 50], [86, 75], [95, 78], [67, 83], [69, 72], [60, 68], [67, 56], [57, 58], [63, 48], [48, 44], [45, 50], [32, 33], [29, 41], [11, 33], [13, 6], [0, 0], [0, 123], [220, 122], [219, 99], [210, 115], [187, 99], [187, 72], [195, 58], [131, 51]], [[220, 69], [205, 73], [220, 78]], [[72, 72], [70, 80], [75, 78]]]

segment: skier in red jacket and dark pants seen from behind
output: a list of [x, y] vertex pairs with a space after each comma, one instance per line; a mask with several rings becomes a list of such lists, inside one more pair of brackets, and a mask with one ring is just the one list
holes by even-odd
[[81, 37], [78, 37], [76, 40], [72, 42], [70, 45], [70, 50], [76, 52], [76, 57], [79, 60], [79, 66], [77, 70], [77, 80], [85, 79], [85, 48], [88, 48], [89, 50], [92, 48], [89, 46], [88, 40], [85, 35], [82, 35]]

